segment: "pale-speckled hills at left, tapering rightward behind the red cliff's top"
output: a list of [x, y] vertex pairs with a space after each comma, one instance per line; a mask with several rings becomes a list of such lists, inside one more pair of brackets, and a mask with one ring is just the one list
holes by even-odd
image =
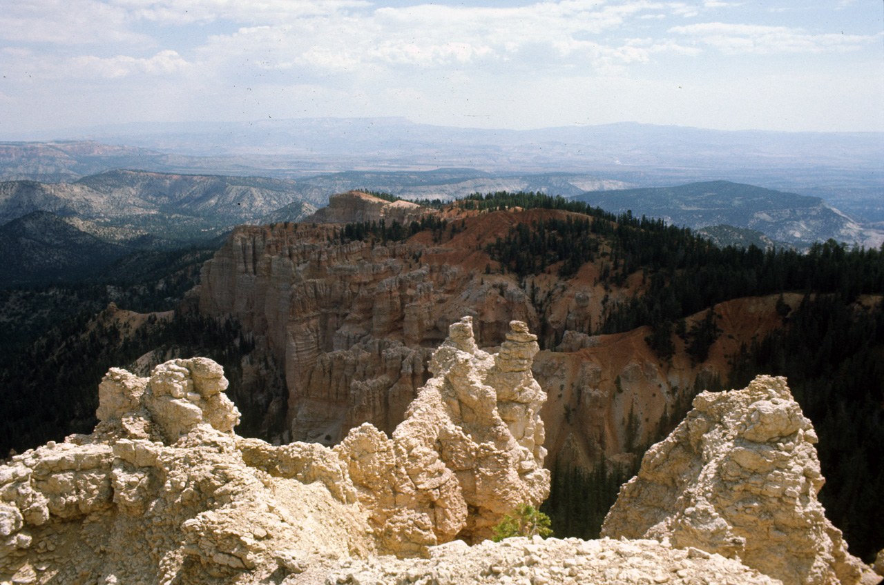
[[[323, 206], [330, 195], [353, 189], [447, 201], [476, 192], [573, 195], [623, 186], [628, 185], [591, 175], [495, 177], [472, 169], [347, 171], [300, 180], [112, 170], [70, 183], [0, 182], [0, 222], [43, 210], [91, 222], [95, 225], [80, 228], [95, 235], [102, 235], [98, 230], [119, 232], [125, 227], [132, 238], [153, 233], [192, 241], [236, 224], [298, 221]], [[112, 239], [122, 238], [118, 233]]]

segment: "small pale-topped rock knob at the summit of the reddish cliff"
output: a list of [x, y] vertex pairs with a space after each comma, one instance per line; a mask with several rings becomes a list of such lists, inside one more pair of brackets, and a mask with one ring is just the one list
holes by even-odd
[[316, 209], [302, 221], [305, 224], [356, 224], [384, 219], [388, 223], [408, 224], [420, 219], [425, 211], [411, 201], [385, 201], [360, 191], [347, 191], [331, 195], [328, 206]]

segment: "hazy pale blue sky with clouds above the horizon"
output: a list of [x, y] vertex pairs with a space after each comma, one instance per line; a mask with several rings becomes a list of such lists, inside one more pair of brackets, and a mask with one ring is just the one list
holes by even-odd
[[884, 131], [881, 0], [0, 0], [0, 140], [401, 116]]

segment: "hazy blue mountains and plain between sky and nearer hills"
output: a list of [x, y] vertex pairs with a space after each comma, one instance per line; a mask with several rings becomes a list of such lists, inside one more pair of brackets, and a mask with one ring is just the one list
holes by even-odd
[[[884, 222], [884, 133], [634, 123], [488, 130], [404, 118], [302, 118], [108, 125], [53, 139], [0, 142], [0, 179], [72, 181], [117, 168], [276, 179], [475, 169], [473, 178], [575, 173], [637, 187], [724, 179], [819, 196], [858, 221]], [[601, 188], [609, 187], [583, 187]]]

